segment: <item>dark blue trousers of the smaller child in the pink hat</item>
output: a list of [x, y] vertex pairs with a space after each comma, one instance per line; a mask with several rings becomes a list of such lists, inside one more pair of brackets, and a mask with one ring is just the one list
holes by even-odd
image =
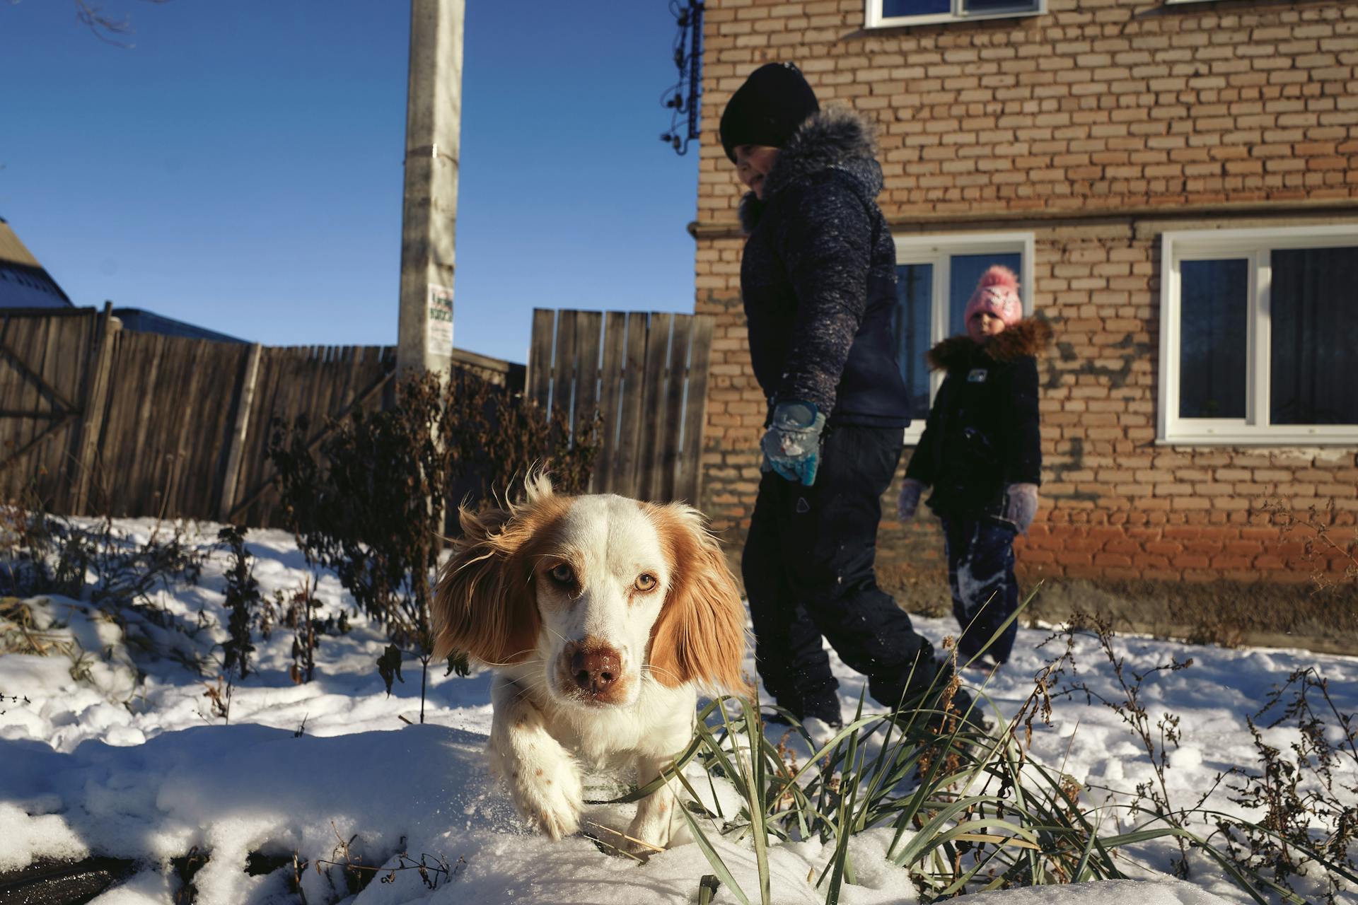
[[[957, 657], [966, 662], [986, 646], [1019, 608], [1019, 582], [1014, 579], [1016, 532], [1008, 522], [980, 516], [944, 517], [942, 533], [952, 613], [961, 628]], [[1005, 662], [1017, 634], [1019, 623], [1009, 623], [986, 654], [997, 663]]]

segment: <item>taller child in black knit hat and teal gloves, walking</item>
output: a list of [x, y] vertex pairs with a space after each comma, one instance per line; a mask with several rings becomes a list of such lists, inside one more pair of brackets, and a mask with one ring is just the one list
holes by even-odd
[[[870, 121], [822, 110], [800, 69], [770, 62], [732, 95], [721, 142], [750, 187], [740, 294], [769, 399], [741, 556], [759, 677], [792, 716], [841, 725], [828, 640], [875, 700], [918, 706], [948, 676], [873, 571], [910, 396], [891, 334], [896, 248], [876, 202]], [[952, 703], [964, 712], [970, 699], [959, 691]]]

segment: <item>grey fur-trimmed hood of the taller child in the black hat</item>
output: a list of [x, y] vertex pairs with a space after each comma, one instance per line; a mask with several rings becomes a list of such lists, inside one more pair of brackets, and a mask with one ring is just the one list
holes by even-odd
[[[769, 171], [765, 198], [824, 170], [849, 174], [869, 198], [876, 198], [881, 191], [881, 167], [876, 159], [873, 126], [849, 107], [824, 107], [797, 126]], [[767, 204], [759, 201], [752, 191], [747, 191], [740, 199], [740, 225], [747, 233], [759, 223]]]

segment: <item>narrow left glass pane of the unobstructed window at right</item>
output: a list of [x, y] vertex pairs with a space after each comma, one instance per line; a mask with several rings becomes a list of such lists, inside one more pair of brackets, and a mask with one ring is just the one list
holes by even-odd
[[1249, 262], [1179, 265], [1179, 417], [1244, 418]]

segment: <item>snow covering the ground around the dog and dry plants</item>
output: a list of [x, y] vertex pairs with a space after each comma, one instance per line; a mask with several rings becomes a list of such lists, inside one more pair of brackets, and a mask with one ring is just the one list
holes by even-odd
[[[147, 521], [120, 525], [141, 536], [151, 529]], [[210, 544], [215, 528], [204, 526], [202, 533], [204, 544]], [[255, 531], [249, 540], [265, 597], [292, 592], [308, 577], [289, 535]], [[216, 662], [221, 651], [210, 644], [225, 638], [225, 554], [215, 554], [197, 586], [175, 588], [158, 601], [182, 624], [202, 625], [194, 642], [172, 635], [181, 638], [177, 643], [197, 644], [198, 653], [210, 651]], [[322, 575], [319, 597], [330, 601], [330, 612], [348, 600], [333, 575]], [[352, 620], [349, 634], [323, 638], [318, 674], [308, 684], [295, 685], [288, 677], [287, 628], [257, 642], [258, 672], [235, 689], [224, 725], [213, 716], [202, 677], [139, 643], [141, 636], [164, 642], [163, 628], [129, 624], [125, 635], [79, 601], [54, 597], [30, 605], [39, 628], [49, 630], [43, 635], [49, 655], [0, 655], [0, 872], [43, 856], [137, 859], [139, 871], [96, 898], [98, 905], [170, 902], [179, 886], [170, 860], [191, 849], [209, 853], [193, 881], [202, 905], [299, 901], [288, 890], [295, 852], [310, 863], [300, 878], [312, 905], [693, 902], [698, 878], [712, 872], [697, 845], [672, 848], [638, 866], [600, 853], [587, 839], [550, 843], [530, 833], [482, 764], [489, 674], [444, 677], [432, 669], [426, 722], [417, 725], [418, 663], [405, 663], [405, 681], [388, 696], [373, 668], [386, 642], [361, 616]], [[945, 620], [917, 621], [936, 640], [955, 631]], [[1014, 659], [991, 680], [987, 693], [1004, 715], [1017, 711], [1032, 692], [1033, 673], [1057, 653], [1055, 646], [1039, 650], [1048, 634], [1023, 630]], [[1194, 658], [1187, 669], [1156, 673], [1142, 691], [1153, 718], [1171, 712], [1181, 720], [1183, 738], [1171, 750], [1167, 771], [1172, 801], [1179, 796], [1191, 805], [1221, 771], [1256, 763], [1245, 716], [1293, 670], [1315, 666], [1340, 710], [1358, 711], [1354, 658], [1141, 638], [1116, 643], [1135, 672], [1171, 657]], [[1080, 639], [1077, 657], [1081, 678], [1114, 697], [1111, 670], [1092, 638]], [[849, 715], [862, 682], [834, 662]], [[1297, 737], [1296, 727], [1264, 730], [1266, 741], [1285, 752]], [[1051, 727], [1039, 726], [1033, 735], [1032, 754], [1074, 776], [1090, 803], [1099, 803], [1104, 790], [1130, 792], [1152, 777], [1145, 749], [1122, 719], [1084, 699], [1057, 703]], [[1358, 786], [1358, 776], [1340, 779], [1350, 788]], [[1224, 791], [1210, 805], [1234, 809]], [[607, 809], [596, 817], [611, 825], [626, 822]], [[1126, 815], [1108, 811], [1105, 821], [1115, 820], [1131, 825]], [[889, 830], [856, 837], [860, 883], [846, 886], [841, 901], [917, 901], [904, 872], [881, 858], [889, 839]], [[344, 862], [345, 844], [348, 855], [365, 864], [422, 860], [433, 870], [425, 874], [428, 882], [417, 870], [398, 870], [391, 882], [373, 882], [353, 896], [342, 871], [316, 870], [318, 863]], [[273, 866], [287, 864], [253, 875], [246, 871], [253, 852], [278, 856]], [[976, 900], [997, 905], [1248, 901], [1205, 859], [1191, 862], [1192, 885], [1156, 877], [1176, 852], [1150, 847], [1142, 863], [1123, 864], [1150, 882], [1012, 890]], [[752, 855], [737, 845], [724, 845], [721, 853], [737, 882], [758, 890]], [[824, 901], [824, 891], [812, 889], [807, 877], [830, 853], [818, 843], [773, 847], [774, 900]], [[722, 887], [714, 901], [736, 898]]]

